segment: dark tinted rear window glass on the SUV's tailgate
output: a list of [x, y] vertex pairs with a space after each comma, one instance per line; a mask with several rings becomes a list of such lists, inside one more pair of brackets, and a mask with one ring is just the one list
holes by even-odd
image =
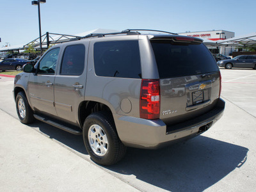
[[161, 79], [215, 72], [211, 52], [203, 44], [174, 44], [171, 40], [152, 40]]

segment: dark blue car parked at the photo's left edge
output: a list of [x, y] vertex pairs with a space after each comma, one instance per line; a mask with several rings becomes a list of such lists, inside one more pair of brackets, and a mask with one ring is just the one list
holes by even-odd
[[6, 59], [0, 62], [0, 70], [22, 70], [22, 66], [28, 63], [28, 60], [23, 59]]

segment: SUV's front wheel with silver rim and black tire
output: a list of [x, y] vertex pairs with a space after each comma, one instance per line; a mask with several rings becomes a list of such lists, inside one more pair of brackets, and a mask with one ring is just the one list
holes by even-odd
[[27, 97], [24, 92], [19, 92], [16, 97], [16, 110], [22, 124], [31, 124], [35, 121], [33, 111], [28, 104]]

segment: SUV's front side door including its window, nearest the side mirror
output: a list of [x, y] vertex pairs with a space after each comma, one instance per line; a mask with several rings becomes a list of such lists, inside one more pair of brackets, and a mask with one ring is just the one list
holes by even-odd
[[51, 49], [36, 65], [36, 74], [30, 74], [28, 92], [31, 105], [35, 111], [55, 115], [54, 79], [60, 47]]

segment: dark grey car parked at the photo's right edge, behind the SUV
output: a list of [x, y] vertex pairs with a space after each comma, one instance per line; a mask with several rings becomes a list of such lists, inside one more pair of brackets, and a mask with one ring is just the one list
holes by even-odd
[[219, 67], [232, 68], [254, 68], [256, 69], [256, 56], [255, 55], [239, 55], [232, 60], [221, 60], [217, 62]]

